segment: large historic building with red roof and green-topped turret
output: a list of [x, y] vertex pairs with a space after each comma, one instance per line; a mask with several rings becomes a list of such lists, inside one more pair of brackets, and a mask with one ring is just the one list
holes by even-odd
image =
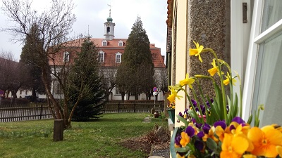
[[[91, 38], [90, 40], [98, 48], [99, 57], [98, 60], [102, 65], [101, 71], [104, 73], [105, 77], [113, 77], [116, 75], [116, 71], [118, 66], [121, 64], [121, 57], [124, 53], [124, 49], [126, 46], [127, 39], [118, 39], [115, 38], [115, 23], [113, 22], [113, 18], [111, 18], [111, 14], [109, 18], [104, 22], [104, 38], [97, 39]], [[129, 34], [130, 32], [128, 32]], [[66, 49], [56, 55], [56, 63], [55, 65], [62, 64], [71, 64], [73, 58], [75, 58], [75, 52], [80, 51], [80, 46], [82, 44], [81, 39], [76, 39], [74, 41], [68, 42], [66, 44]], [[161, 80], [162, 75], [166, 73], [166, 65], [164, 64], [164, 55], [161, 55], [161, 48], [155, 46], [155, 44], [150, 44], [150, 51], [152, 53], [152, 60], [154, 62], [154, 71], [155, 71], [155, 79]], [[52, 64], [49, 62], [49, 64]], [[160, 81], [157, 81], [160, 84]], [[152, 87], [153, 88], [153, 87]], [[56, 79], [53, 79], [51, 91], [56, 98], [62, 98], [62, 93], [60, 92], [59, 83]], [[139, 100], [143, 100], [146, 98], [145, 94], [141, 94], [139, 96]], [[125, 99], [128, 99], [128, 96], [125, 96]], [[130, 96], [130, 100], [133, 100], [134, 96]], [[151, 99], [154, 99], [152, 96]], [[109, 96], [109, 100], [121, 100], [121, 94], [118, 92], [118, 89], [114, 87], [111, 91], [111, 95]], [[158, 100], [164, 100], [164, 96], [162, 93], [159, 93]]]

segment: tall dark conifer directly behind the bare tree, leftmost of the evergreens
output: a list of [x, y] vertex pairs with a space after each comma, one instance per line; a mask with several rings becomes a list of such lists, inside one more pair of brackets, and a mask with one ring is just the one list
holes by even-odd
[[[23, 65], [27, 67], [30, 74], [30, 83], [25, 88], [31, 88], [32, 89], [32, 101], [36, 100], [36, 94], [37, 93], [44, 93], [45, 88], [42, 81], [42, 70], [39, 67], [42, 61], [39, 59], [39, 53], [38, 48], [39, 46], [36, 46], [39, 44], [41, 39], [39, 38], [39, 29], [36, 24], [32, 25], [30, 29], [30, 36], [26, 36], [25, 38], [25, 45], [22, 48], [22, 53], [20, 54], [20, 62], [23, 62]], [[46, 58], [46, 57], [45, 57]], [[46, 58], [46, 63], [48, 63], [48, 60]], [[51, 82], [51, 77], [49, 75], [49, 82]], [[50, 85], [50, 84], [49, 84]]]

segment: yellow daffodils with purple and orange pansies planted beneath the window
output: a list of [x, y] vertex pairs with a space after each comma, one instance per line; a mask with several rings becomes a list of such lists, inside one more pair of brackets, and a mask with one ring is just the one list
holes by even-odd
[[[176, 127], [171, 139], [172, 157], [282, 157], [282, 128], [271, 124], [259, 128], [259, 111], [264, 110], [263, 105], [255, 115], [250, 115], [247, 121], [242, 119], [242, 93], [238, 97], [233, 93], [236, 74], [232, 76], [231, 67], [224, 60], [217, 58], [212, 48], [204, 48], [194, 41], [196, 48], [189, 50], [189, 55], [198, 56], [200, 53], [212, 53], [214, 59], [212, 68], [208, 70], [210, 76], [195, 75], [169, 86], [171, 95], [168, 100], [180, 99], [178, 91], [184, 91], [188, 98], [189, 107], [185, 112], [180, 112], [176, 117], [184, 126]], [[222, 67], [227, 67], [223, 72]], [[214, 80], [214, 75], [219, 76], [219, 85]], [[223, 75], [225, 79], [223, 79]], [[210, 79], [214, 86], [215, 96], [211, 99], [204, 96], [199, 79]], [[186, 91], [188, 85], [193, 99]], [[225, 86], [230, 86], [229, 96]], [[196, 95], [198, 88], [200, 95]], [[200, 102], [201, 101], [201, 102]], [[202, 103], [202, 105], [200, 105]], [[255, 118], [252, 120], [252, 118]], [[254, 124], [251, 126], [250, 124]]]

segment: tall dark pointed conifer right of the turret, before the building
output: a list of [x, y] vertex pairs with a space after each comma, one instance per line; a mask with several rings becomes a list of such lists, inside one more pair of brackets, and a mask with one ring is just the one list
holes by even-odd
[[[152, 89], [152, 83], [154, 82], [154, 64], [149, 49], [149, 38], [142, 25], [141, 18], [137, 17], [137, 20], [131, 28], [132, 30], [126, 41], [122, 56], [121, 69], [126, 72], [121, 72], [120, 70], [118, 71], [120, 74], [117, 74], [118, 76], [121, 76], [121, 73], [128, 74], [127, 77], [117, 78], [117, 86], [121, 88], [121, 84], [119, 83], [125, 81], [121, 81], [120, 79], [126, 79], [126, 90], [130, 91], [130, 93], [134, 93], [135, 100], [137, 100], [140, 93], [149, 93], [148, 90]], [[138, 67], [142, 67], [143, 69], [138, 70]], [[120, 67], [118, 69], [120, 69]]]

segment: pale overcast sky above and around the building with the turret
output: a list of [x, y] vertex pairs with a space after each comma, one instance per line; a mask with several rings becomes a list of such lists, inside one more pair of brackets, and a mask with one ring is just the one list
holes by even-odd
[[[128, 38], [133, 23], [137, 20], [137, 16], [140, 16], [150, 43], [156, 44], [161, 48], [161, 54], [166, 55], [166, 0], [73, 0], [73, 2], [75, 4], [73, 13], [77, 18], [73, 25], [73, 35], [87, 34], [89, 31], [93, 38], [104, 38], [104, 22], [109, 17], [108, 4], [110, 4], [111, 18], [116, 23], [115, 38]], [[48, 3], [48, 1], [33, 0], [36, 8], [46, 8]], [[1, 11], [1, 28], [7, 27], [7, 19]], [[19, 60], [23, 45], [14, 44], [10, 41], [11, 37], [11, 34], [0, 32], [0, 49], [11, 51]]]

